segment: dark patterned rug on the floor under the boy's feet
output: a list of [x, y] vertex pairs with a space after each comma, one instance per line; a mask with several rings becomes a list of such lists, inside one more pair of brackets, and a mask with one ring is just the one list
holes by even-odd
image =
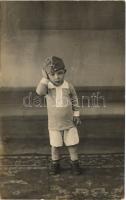
[[82, 175], [73, 176], [67, 155], [60, 175], [49, 176], [50, 156], [0, 156], [2, 199], [121, 200], [124, 193], [124, 155], [80, 155]]

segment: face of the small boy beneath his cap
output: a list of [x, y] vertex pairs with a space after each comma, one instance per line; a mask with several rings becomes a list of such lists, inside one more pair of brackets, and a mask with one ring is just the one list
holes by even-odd
[[60, 69], [56, 72], [52, 71], [48, 73], [48, 77], [54, 85], [60, 86], [64, 81], [65, 72], [66, 71], [64, 69]]

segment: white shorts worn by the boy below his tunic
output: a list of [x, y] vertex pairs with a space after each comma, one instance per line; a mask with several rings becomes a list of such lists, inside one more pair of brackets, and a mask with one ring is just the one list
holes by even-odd
[[76, 127], [70, 129], [60, 130], [49, 130], [50, 145], [54, 147], [71, 146], [79, 143], [79, 135]]

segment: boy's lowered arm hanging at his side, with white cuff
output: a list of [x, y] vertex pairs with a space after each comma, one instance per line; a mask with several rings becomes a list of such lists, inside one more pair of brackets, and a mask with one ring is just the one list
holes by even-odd
[[78, 97], [74, 87], [71, 84], [69, 84], [69, 86], [70, 86], [70, 98], [72, 102], [72, 109], [74, 112], [73, 121], [75, 125], [78, 126], [81, 124]]

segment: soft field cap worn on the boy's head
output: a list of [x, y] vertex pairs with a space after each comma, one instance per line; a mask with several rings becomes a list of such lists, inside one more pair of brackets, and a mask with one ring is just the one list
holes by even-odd
[[56, 72], [58, 70], [65, 69], [65, 65], [61, 58], [51, 56], [45, 59], [44, 69], [47, 73]]

